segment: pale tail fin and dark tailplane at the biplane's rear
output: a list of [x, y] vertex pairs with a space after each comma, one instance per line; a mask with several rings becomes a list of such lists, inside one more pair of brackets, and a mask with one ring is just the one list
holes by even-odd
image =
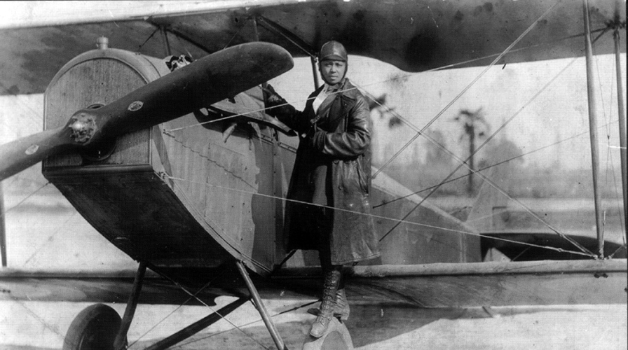
[[[500, 188], [509, 188], [510, 176], [504, 167], [493, 167], [486, 176]], [[547, 200], [547, 199], [545, 199]], [[558, 199], [560, 201], [560, 199]], [[465, 224], [474, 228], [482, 235], [480, 240], [482, 260], [573, 260], [582, 259], [584, 255], [569, 253], [578, 251], [578, 245], [595, 251], [597, 239], [594, 230], [589, 227], [574, 228], [565, 224], [573, 218], [575, 209], [552, 209], [541, 204], [540, 207], [526, 209], [510, 204], [506, 195], [484, 181], [477, 198], [469, 211]], [[533, 210], [536, 216], [542, 216], [547, 223], [564, 226], [562, 235], [557, 235], [545, 221], [538, 222], [528, 211]], [[588, 208], [578, 209], [579, 215], [587, 213]], [[571, 212], [570, 212], [571, 211]], [[585, 222], [583, 219], [582, 222]], [[567, 238], [566, 238], [567, 237]], [[604, 245], [614, 258], [624, 258], [625, 246], [621, 241], [613, 241], [608, 235]]]

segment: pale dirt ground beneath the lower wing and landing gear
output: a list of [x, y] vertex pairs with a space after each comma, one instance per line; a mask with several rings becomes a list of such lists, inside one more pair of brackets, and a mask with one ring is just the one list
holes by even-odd
[[[218, 300], [230, 302], [228, 297]], [[266, 300], [271, 314], [308, 300]], [[86, 303], [0, 302], [0, 349], [60, 349], [69, 323]], [[123, 305], [111, 305], [123, 312]], [[205, 307], [139, 305], [129, 349], [144, 349], [207, 314]], [[625, 304], [552, 307], [416, 309], [353, 305], [346, 323], [353, 346], [375, 349], [627, 349]], [[172, 349], [275, 349], [252, 305]], [[306, 307], [275, 316], [288, 349], [301, 349], [313, 316]], [[238, 325], [238, 328], [235, 328]]]

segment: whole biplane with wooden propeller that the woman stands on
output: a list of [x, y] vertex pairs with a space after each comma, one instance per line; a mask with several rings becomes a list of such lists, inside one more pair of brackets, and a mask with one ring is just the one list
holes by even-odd
[[[128, 300], [122, 316], [104, 304], [81, 311], [67, 332], [68, 350], [125, 349], [142, 289], [163, 301], [172, 286], [201, 304], [203, 295], [238, 299], [149, 349], [177, 344], [251, 299], [275, 345], [285, 349], [261, 296], [285, 290], [313, 296], [320, 283], [317, 256], [285, 246], [283, 210], [296, 139], [264, 113], [265, 84], [292, 69], [293, 57], [310, 59], [318, 85], [316, 52], [330, 39], [352, 55], [407, 72], [571, 57], [589, 63], [594, 53], [616, 54], [619, 62], [626, 50], [623, 1], [102, 1], [90, 13], [79, 3], [66, 13], [55, 6], [2, 4], [2, 93], [43, 93], [44, 127], [0, 146], [0, 179], [8, 183], [41, 162], [43, 176], [76, 211], [139, 263], [132, 283], [120, 274], [0, 272], [8, 291], [0, 295], [11, 300], [29, 297], [23, 290], [34, 280], [47, 288], [41, 293], [46, 300], [71, 300], [74, 288], [91, 300]], [[28, 15], [13, 20], [8, 13]], [[173, 69], [163, 59], [173, 55], [193, 62]], [[623, 80], [617, 78], [620, 105]], [[458, 97], [469, 86], [461, 84]], [[384, 107], [364, 93], [374, 107]], [[590, 92], [596, 163], [594, 99]], [[625, 113], [619, 110], [621, 136]], [[426, 199], [438, 186], [419, 193], [387, 174], [390, 162], [374, 167], [370, 193], [382, 256], [346, 267], [350, 301], [415, 307], [627, 302], [625, 239], [604, 239], [599, 191], [596, 237], [568, 235], [507, 195], [469, 158], [431, 139], [425, 132], [431, 123], [414, 125], [387, 111], [414, 132], [408, 144], [428, 138], [456, 160], [456, 170], [482, 178], [469, 214], [481, 224], [430, 204]], [[625, 139], [620, 148], [625, 208]], [[593, 181], [598, 167], [592, 167]], [[500, 231], [496, 196], [528, 211], [542, 232]], [[622, 220], [625, 231], [625, 214]], [[2, 243], [6, 259], [4, 232]], [[525, 261], [486, 261], [489, 251], [515, 260], [530, 248], [535, 254]], [[320, 349], [350, 347], [338, 324]]]

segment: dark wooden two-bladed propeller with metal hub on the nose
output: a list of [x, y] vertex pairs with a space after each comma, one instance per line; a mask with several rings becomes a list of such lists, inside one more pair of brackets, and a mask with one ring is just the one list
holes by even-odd
[[245, 43], [207, 55], [100, 109], [77, 111], [64, 127], [0, 146], [0, 181], [49, 155], [179, 118], [292, 69], [292, 56], [271, 43]]

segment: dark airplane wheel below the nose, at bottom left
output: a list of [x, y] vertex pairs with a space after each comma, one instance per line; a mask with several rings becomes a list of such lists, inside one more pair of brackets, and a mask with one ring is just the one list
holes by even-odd
[[70, 324], [63, 350], [114, 350], [121, 323], [116, 310], [105, 304], [86, 307]]

